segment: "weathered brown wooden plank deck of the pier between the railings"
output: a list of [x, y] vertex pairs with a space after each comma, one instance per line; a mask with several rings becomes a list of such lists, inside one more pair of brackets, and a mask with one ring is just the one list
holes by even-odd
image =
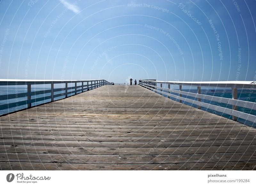
[[256, 129], [140, 86], [0, 117], [2, 170], [254, 170]]

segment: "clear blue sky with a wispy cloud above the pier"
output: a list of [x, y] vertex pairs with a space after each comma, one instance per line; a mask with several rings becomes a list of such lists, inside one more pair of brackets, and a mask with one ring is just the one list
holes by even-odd
[[242, 0], [2, 0], [0, 78], [250, 81], [254, 7]]

